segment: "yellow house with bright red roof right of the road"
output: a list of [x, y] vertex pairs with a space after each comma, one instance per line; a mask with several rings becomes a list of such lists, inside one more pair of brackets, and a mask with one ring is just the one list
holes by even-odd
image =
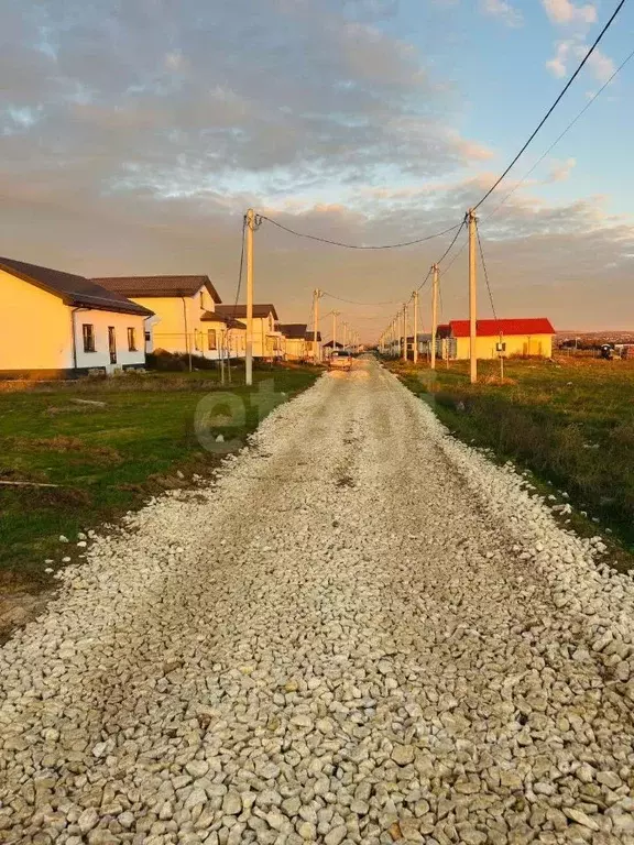
[[[504, 356], [535, 355], [551, 358], [555, 329], [546, 317], [524, 317], [504, 320], [477, 321], [478, 358], [499, 358], [498, 344], [504, 344]], [[449, 341], [455, 340], [455, 353], [459, 361], [470, 355], [469, 320], [449, 321]]]

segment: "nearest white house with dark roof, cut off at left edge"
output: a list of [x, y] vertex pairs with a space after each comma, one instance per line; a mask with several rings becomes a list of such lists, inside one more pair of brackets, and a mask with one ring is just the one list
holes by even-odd
[[61, 377], [142, 367], [152, 311], [96, 282], [0, 257], [0, 373]]

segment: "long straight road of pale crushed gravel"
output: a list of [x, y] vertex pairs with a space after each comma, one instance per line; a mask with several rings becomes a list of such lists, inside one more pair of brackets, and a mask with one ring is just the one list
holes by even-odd
[[0, 842], [633, 844], [605, 558], [375, 362], [325, 375], [0, 650]]

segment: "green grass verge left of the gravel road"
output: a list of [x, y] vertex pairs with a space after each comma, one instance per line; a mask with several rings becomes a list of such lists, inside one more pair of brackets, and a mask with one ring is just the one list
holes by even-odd
[[[233, 384], [222, 387], [215, 372], [83, 380], [28, 391], [6, 385], [7, 392], [0, 392], [0, 480], [59, 486], [0, 485], [0, 584], [35, 582], [46, 558], [58, 562], [68, 550], [76, 551], [61, 544], [59, 535], [74, 540], [78, 531], [139, 507], [152, 494], [189, 483], [193, 473], [205, 475], [218, 465], [219, 449], [241, 446], [261, 417], [313, 384], [319, 372], [263, 367], [254, 372], [254, 388], [238, 384], [237, 374]], [[244, 408], [234, 425], [222, 391]], [[251, 402], [254, 395], [258, 402]], [[204, 397], [212, 407], [203, 415], [199, 432], [214, 451], [201, 447], [195, 427]], [[218, 435], [223, 443], [216, 443]]]

